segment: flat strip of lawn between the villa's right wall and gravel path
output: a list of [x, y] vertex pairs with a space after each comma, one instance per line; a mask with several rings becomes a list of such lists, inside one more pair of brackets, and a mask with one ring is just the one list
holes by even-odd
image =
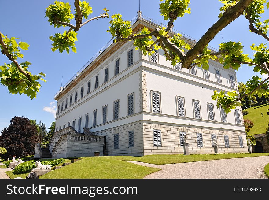
[[240, 157], [255, 157], [255, 156], [269, 156], [269, 153], [252, 153], [252, 154], [217, 154], [217, 155], [183, 155], [183, 154], [169, 154], [169, 155], [148, 155], [141, 157], [132, 156], [113, 156], [115, 159], [124, 161], [138, 161], [150, 164], [163, 165], [183, 162], [209, 161], [228, 158]]

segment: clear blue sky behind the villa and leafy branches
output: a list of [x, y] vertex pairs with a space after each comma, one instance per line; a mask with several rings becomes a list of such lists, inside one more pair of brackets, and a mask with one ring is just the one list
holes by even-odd
[[[39, 120], [45, 123], [47, 128], [55, 120], [56, 101], [54, 94], [61, 87], [63, 76], [63, 85], [68, 82], [110, 39], [111, 35], [106, 32], [109, 27], [110, 19], [95, 20], [83, 26], [77, 35], [76, 41], [77, 53], [52, 52], [50, 35], [62, 33], [66, 28], [54, 28], [49, 26], [45, 17], [46, 7], [53, 4], [54, 1], [36, 1], [36, 0], [12, 0], [1, 1], [1, 22], [0, 31], [8, 37], [18, 37], [20, 41], [27, 42], [29, 50], [23, 51], [23, 59], [18, 62], [30, 61], [32, 65], [29, 70], [32, 73], [46, 73], [47, 83], [42, 83], [40, 93], [37, 98], [31, 100], [25, 95], [11, 95], [6, 87], [0, 85], [0, 131], [9, 125], [14, 116], [25, 116], [30, 119]], [[74, 9], [74, 0], [69, 0]], [[122, 14], [125, 20], [132, 20], [138, 11], [138, 0], [134, 1], [87, 1], [93, 7], [91, 17], [98, 16], [102, 9], [109, 9], [109, 15], [115, 13]], [[179, 18], [174, 23], [174, 28], [195, 39], [202, 35], [217, 20], [221, 3], [217, 0], [191, 0], [191, 14]], [[140, 10], [142, 15], [167, 24], [159, 12], [159, 0], [141, 0]], [[268, 11], [263, 14], [264, 19], [269, 18]], [[74, 24], [74, 22], [73, 22]], [[209, 43], [210, 46], [218, 48], [219, 43], [235, 41], [242, 42], [245, 54], [253, 55], [249, 46], [252, 43], [266, 43], [261, 36], [249, 32], [248, 21], [239, 17], [226, 28], [224, 28]], [[222, 39], [223, 37], [223, 39]], [[9, 63], [4, 55], [0, 54], [0, 64]], [[251, 67], [242, 66], [237, 72], [237, 79], [246, 82], [253, 75]], [[257, 74], [258, 75], [258, 74]], [[53, 103], [54, 102], [54, 103]], [[46, 111], [44, 111], [44, 108]]]

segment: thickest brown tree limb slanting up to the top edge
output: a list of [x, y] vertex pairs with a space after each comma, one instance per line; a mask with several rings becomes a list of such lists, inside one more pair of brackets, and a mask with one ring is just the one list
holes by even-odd
[[205, 46], [228, 24], [242, 15], [243, 11], [252, 3], [253, 0], [239, 0], [239, 2], [228, 8], [223, 16], [199, 39], [195, 46], [186, 53], [182, 62], [182, 67], [188, 68], [198, 54], [202, 54]]

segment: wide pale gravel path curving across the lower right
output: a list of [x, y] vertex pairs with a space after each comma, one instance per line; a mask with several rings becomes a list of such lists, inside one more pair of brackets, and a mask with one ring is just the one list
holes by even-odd
[[213, 161], [198, 161], [168, 165], [153, 165], [143, 162], [130, 161], [147, 167], [160, 168], [145, 176], [153, 178], [267, 178], [263, 169], [269, 163], [269, 156], [232, 158]]

